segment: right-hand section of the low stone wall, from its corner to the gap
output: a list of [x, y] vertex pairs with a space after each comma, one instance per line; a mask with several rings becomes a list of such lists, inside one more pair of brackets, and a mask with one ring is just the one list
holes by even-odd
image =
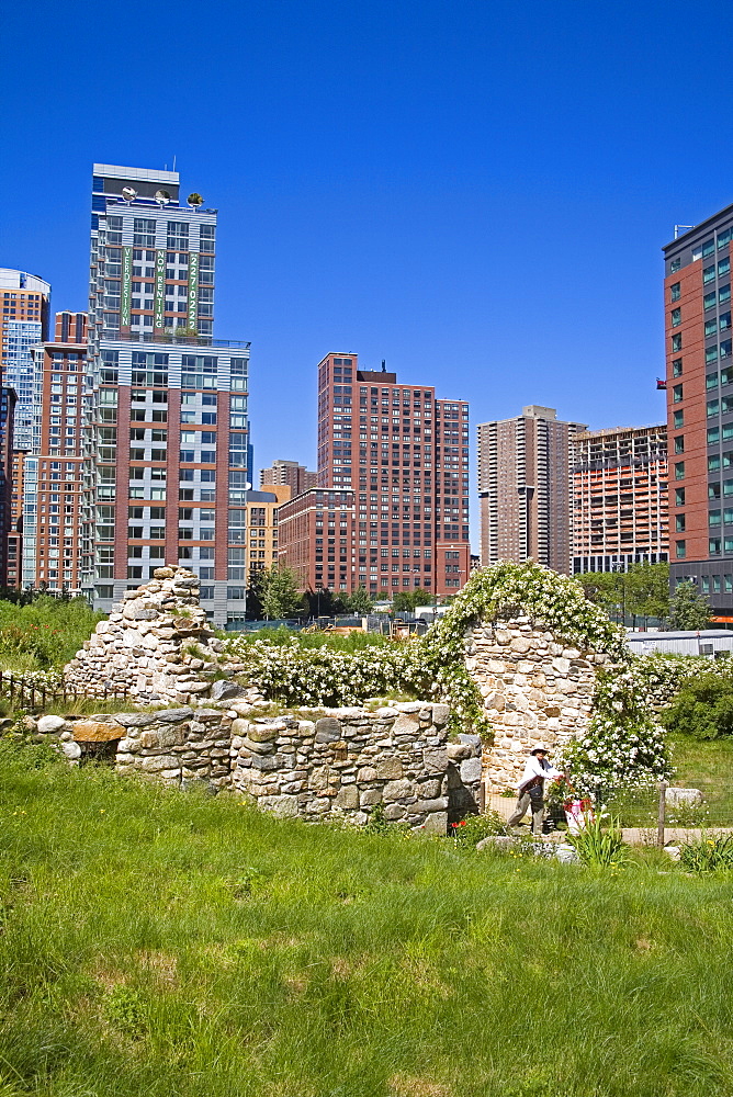
[[238, 719], [232, 782], [281, 815], [364, 823], [383, 804], [387, 821], [444, 834], [449, 812], [475, 810], [481, 783], [481, 740], [448, 743], [448, 715], [447, 705], [417, 701], [317, 720]]

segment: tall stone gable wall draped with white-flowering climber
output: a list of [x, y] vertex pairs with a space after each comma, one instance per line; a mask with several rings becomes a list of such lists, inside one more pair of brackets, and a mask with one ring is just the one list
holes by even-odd
[[494, 744], [484, 774], [488, 792], [521, 776], [538, 743], [562, 747], [588, 725], [598, 667], [607, 656], [559, 643], [528, 618], [477, 625], [466, 637], [466, 668], [478, 685]]

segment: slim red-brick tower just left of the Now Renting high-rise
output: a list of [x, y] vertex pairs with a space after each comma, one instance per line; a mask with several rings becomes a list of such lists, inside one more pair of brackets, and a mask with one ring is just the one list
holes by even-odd
[[54, 340], [32, 353], [33, 444], [22, 460], [22, 521], [11, 540], [22, 536], [24, 587], [79, 595], [87, 314], [57, 313]]

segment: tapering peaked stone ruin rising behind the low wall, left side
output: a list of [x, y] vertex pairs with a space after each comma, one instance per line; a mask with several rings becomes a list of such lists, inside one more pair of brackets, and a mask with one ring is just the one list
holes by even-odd
[[91, 697], [126, 692], [140, 704], [190, 704], [210, 692], [222, 649], [199, 606], [198, 576], [159, 567], [149, 583], [125, 591], [64, 675]]

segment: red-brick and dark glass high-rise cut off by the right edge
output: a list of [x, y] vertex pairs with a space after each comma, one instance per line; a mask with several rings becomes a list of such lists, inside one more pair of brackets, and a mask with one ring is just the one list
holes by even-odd
[[669, 578], [733, 615], [733, 205], [664, 250]]

